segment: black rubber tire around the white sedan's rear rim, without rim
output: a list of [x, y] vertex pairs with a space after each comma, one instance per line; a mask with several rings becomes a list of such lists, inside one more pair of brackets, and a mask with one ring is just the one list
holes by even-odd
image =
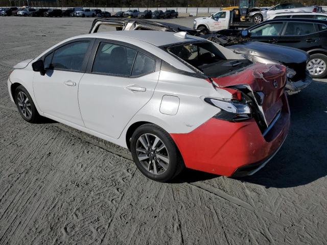
[[[159, 137], [160, 140], [164, 142], [164, 144], [166, 145], [169, 154], [170, 163], [168, 169], [163, 174], [160, 175], [151, 174], [142, 166], [141, 162], [137, 158], [136, 142], [137, 139], [145, 133], [153, 134]], [[142, 174], [144, 174], [146, 177], [148, 177], [151, 180], [158, 181], [158, 182], [167, 182], [173, 179], [180, 172], [179, 170], [183, 166], [181, 162], [182, 160], [180, 157], [180, 153], [173, 139], [165, 130], [161, 129], [156, 125], [145, 124], [137, 128], [132, 135], [130, 148], [131, 148], [133, 160], [137, 168], [142, 172]]]

